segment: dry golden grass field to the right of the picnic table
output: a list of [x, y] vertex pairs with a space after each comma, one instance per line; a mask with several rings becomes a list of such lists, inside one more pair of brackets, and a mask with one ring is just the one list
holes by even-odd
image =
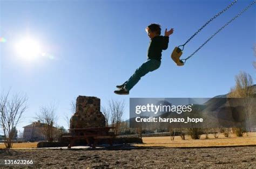
[[225, 137], [220, 134], [218, 138], [213, 135], [201, 135], [200, 139], [191, 139], [186, 136], [182, 140], [180, 136], [175, 136], [172, 141], [170, 137], [143, 137], [144, 144], [135, 144], [135, 146], [161, 146], [161, 147], [209, 147], [209, 146], [239, 146], [239, 145], [256, 145], [256, 132], [248, 133], [244, 137], [236, 137], [234, 134], [231, 137]]

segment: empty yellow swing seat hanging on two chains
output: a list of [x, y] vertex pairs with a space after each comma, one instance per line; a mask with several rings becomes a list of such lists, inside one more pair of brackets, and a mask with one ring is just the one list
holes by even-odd
[[198, 47], [198, 49], [196, 51], [194, 51], [189, 57], [185, 58], [185, 59], [180, 59], [183, 50], [184, 50], [184, 46], [194, 37], [198, 34], [198, 32], [200, 32], [201, 30], [204, 29], [204, 27], [206, 25], [208, 25], [210, 22], [212, 22], [213, 19], [217, 18], [218, 16], [221, 15], [221, 13], [225, 12], [227, 9], [229, 9], [231, 6], [233, 6], [235, 3], [237, 3], [237, 0], [234, 0], [230, 5], [228, 5], [225, 9], [223, 9], [222, 11], [220, 11], [217, 15], [215, 15], [214, 17], [212, 17], [210, 20], [208, 20], [196, 33], [194, 33], [187, 41], [185, 44], [183, 45], [179, 45], [178, 47], [175, 47], [172, 54], [171, 54], [171, 58], [172, 60], [177, 64], [177, 66], [183, 66], [185, 64], [185, 62], [190, 59], [195, 53], [197, 53], [200, 48], [202, 48], [205, 44], [207, 44], [207, 42], [209, 40], [211, 40], [217, 33], [219, 33], [221, 30], [224, 29], [224, 27], [226, 27], [228, 24], [230, 24], [231, 22], [233, 22], [233, 20], [235, 20], [236, 18], [238, 18], [240, 15], [242, 15], [242, 13], [244, 13], [247, 9], [251, 8], [252, 5], [254, 5], [254, 3], [256, 3], [256, 1], [254, 0], [250, 5], [248, 5], [245, 9], [243, 9], [241, 12], [239, 12], [236, 16], [234, 16], [230, 21], [228, 21], [225, 25], [221, 26], [220, 29], [218, 31], [216, 31], [214, 34], [212, 34], [212, 36], [210, 38], [208, 38], [200, 47]]

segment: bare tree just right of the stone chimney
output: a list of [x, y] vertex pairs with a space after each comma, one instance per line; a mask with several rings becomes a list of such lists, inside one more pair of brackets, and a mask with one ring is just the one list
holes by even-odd
[[114, 133], [117, 134], [122, 116], [124, 114], [124, 101], [109, 101], [111, 126], [114, 127]]

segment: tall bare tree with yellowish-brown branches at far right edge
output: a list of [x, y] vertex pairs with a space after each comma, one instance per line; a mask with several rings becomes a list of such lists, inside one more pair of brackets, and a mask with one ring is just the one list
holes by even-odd
[[247, 130], [250, 131], [250, 121], [253, 115], [253, 112], [250, 109], [250, 104], [252, 101], [251, 98], [254, 97], [253, 80], [251, 75], [246, 72], [240, 72], [235, 76], [235, 87], [231, 88], [231, 92], [228, 94], [228, 97], [244, 98], [246, 125]]

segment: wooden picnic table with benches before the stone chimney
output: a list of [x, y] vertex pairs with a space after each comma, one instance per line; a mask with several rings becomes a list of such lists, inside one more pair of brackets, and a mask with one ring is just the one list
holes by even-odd
[[[96, 147], [99, 139], [107, 139], [109, 144], [112, 146], [112, 139], [116, 136], [114, 132], [110, 132], [110, 129], [114, 129], [113, 127], [97, 127], [97, 128], [74, 128], [69, 129], [71, 131], [71, 135], [62, 136], [66, 138], [70, 138], [70, 144], [68, 145], [68, 149], [74, 145], [75, 140], [77, 139], [85, 139], [86, 143], [93, 148]], [[92, 140], [92, 144], [90, 143]]]

